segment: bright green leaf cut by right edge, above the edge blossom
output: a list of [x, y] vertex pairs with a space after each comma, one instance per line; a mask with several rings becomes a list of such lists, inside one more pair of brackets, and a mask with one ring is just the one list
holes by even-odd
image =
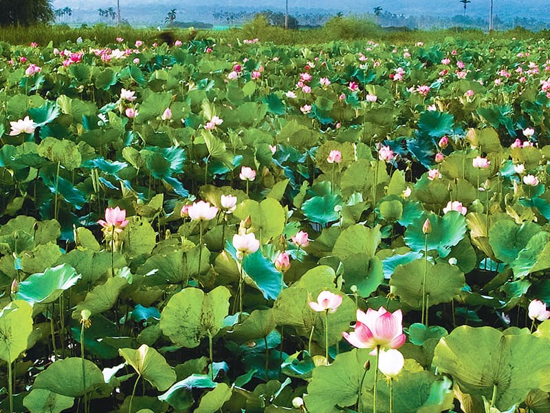
[[541, 231], [533, 235], [510, 266], [516, 278], [550, 268], [550, 234]]

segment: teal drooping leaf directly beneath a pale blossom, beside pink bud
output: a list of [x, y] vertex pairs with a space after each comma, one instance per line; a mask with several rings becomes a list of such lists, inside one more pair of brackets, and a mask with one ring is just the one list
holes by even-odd
[[243, 269], [252, 278], [265, 299], [276, 299], [283, 290], [283, 274], [260, 250], [243, 258]]

